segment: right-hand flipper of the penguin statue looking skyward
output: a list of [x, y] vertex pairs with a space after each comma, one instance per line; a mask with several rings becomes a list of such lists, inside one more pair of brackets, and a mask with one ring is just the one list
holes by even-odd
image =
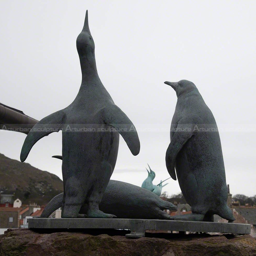
[[140, 152], [140, 140], [134, 124], [117, 105], [111, 104], [103, 109], [105, 124], [114, 127], [124, 138], [131, 153], [137, 156]]

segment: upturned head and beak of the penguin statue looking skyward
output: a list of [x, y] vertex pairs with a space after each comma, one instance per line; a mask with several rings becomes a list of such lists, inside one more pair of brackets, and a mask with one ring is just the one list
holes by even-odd
[[90, 66], [96, 70], [95, 45], [89, 29], [88, 10], [85, 15], [84, 27], [76, 39], [76, 49], [80, 59], [83, 59], [83, 61], [87, 60]]

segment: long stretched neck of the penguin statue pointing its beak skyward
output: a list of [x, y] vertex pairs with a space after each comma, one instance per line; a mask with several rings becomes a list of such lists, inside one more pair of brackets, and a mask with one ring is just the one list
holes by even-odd
[[82, 72], [82, 86], [86, 86], [90, 84], [92, 80], [97, 79], [98, 72], [96, 68], [96, 61], [95, 58], [90, 57], [88, 58], [85, 56], [79, 56], [80, 59], [80, 66], [81, 66], [81, 72]]

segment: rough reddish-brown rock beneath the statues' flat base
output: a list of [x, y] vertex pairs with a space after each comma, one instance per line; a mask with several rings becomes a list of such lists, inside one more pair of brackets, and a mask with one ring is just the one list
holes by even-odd
[[256, 255], [256, 239], [250, 235], [211, 236], [210, 234], [152, 234], [140, 239], [127, 239], [125, 231], [107, 234], [70, 232], [34, 232], [8, 229], [0, 236], [0, 255]]

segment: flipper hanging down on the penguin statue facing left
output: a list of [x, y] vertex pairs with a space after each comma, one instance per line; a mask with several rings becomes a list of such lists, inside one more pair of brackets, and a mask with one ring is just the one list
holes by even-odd
[[193, 135], [193, 126], [178, 124], [177, 130], [174, 132], [172, 140], [167, 148], [165, 161], [167, 170], [172, 177], [173, 180], [176, 181], [175, 174], [175, 161], [178, 153], [185, 145], [185, 143], [190, 139]]

